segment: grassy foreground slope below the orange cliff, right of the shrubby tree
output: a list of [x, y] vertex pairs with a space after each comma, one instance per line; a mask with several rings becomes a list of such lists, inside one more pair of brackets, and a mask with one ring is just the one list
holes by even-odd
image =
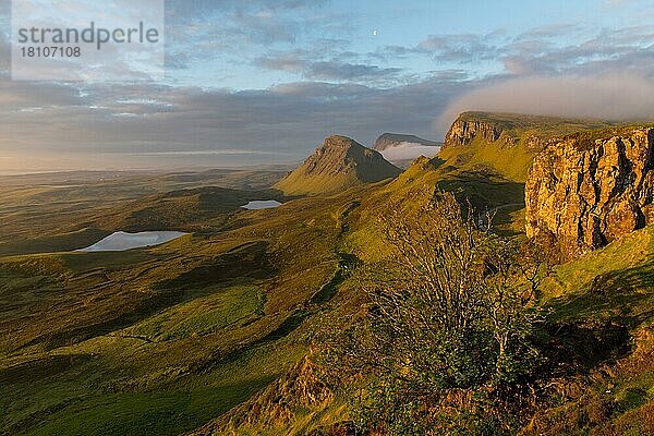
[[654, 227], [555, 268], [543, 302], [583, 368], [553, 384], [528, 435], [654, 431]]

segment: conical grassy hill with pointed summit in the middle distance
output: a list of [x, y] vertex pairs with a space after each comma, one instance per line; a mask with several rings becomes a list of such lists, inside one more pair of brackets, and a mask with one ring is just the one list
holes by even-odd
[[397, 177], [401, 170], [376, 150], [346, 136], [329, 136], [323, 145], [274, 187], [284, 194], [336, 193]]

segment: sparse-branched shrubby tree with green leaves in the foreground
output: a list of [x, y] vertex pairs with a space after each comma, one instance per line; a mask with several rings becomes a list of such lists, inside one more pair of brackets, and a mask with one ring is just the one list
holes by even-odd
[[[363, 319], [330, 343], [328, 367], [359, 376], [360, 424], [390, 434], [509, 432], [540, 361], [537, 251], [480, 228], [447, 193], [379, 222], [391, 255], [371, 265]], [[491, 219], [486, 220], [487, 222]]]

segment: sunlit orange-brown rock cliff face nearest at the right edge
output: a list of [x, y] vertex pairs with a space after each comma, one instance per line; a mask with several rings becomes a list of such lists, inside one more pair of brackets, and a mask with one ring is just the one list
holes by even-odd
[[567, 255], [654, 222], [654, 128], [578, 133], [546, 147], [525, 184], [526, 233]]

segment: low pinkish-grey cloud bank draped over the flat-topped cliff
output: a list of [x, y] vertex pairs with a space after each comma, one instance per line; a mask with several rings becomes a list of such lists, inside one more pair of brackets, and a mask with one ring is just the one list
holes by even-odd
[[455, 99], [438, 118], [444, 129], [469, 110], [608, 120], [654, 119], [654, 82], [634, 73], [502, 80]]

